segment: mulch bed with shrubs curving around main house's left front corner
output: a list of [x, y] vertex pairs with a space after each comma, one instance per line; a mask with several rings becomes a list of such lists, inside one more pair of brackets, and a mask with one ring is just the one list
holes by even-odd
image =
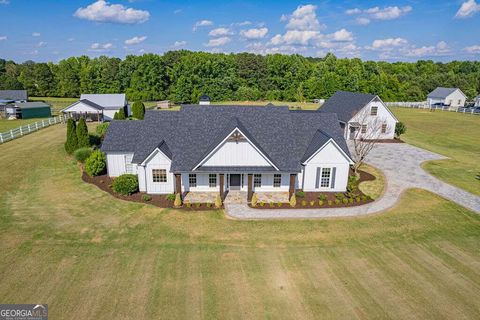
[[[118, 199], [133, 201], [133, 202], [140, 202], [140, 203], [147, 203], [147, 204], [157, 206], [159, 208], [174, 208], [173, 201], [168, 200], [166, 194], [147, 194], [145, 192], [137, 192], [129, 196], [117, 194], [112, 190], [113, 179], [106, 174], [101, 176], [96, 176], [96, 177], [90, 177], [88, 174], [83, 172], [82, 180], [97, 186], [101, 190], [108, 192], [109, 194], [111, 194], [112, 196]], [[151, 200], [148, 200], [148, 201], [143, 200], [142, 197], [144, 195], [150, 196]], [[206, 203], [200, 203], [200, 204], [195, 203], [195, 204], [192, 204], [190, 207], [183, 205], [182, 207], [176, 208], [176, 209], [184, 209], [189, 211], [216, 210], [213, 203], [210, 204], [210, 207]]]

